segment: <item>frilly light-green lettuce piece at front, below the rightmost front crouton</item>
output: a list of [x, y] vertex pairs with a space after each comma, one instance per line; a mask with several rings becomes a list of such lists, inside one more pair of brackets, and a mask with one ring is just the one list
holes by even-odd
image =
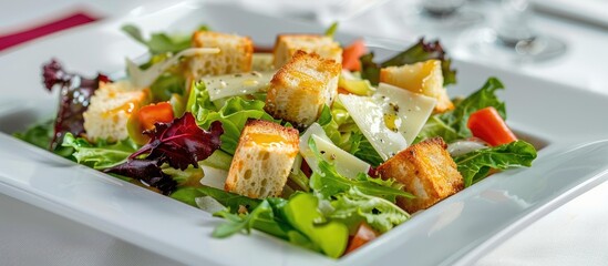
[[334, 211], [330, 217], [349, 225], [349, 228], [357, 228], [364, 221], [375, 231], [385, 233], [410, 218], [410, 214], [393, 203], [367, 195], [357, 187], [336, 197], [331, 202]]

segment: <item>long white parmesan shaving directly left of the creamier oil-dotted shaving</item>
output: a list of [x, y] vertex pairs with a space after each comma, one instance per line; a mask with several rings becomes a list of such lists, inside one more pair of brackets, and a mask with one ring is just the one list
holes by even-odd
[[346, 94], [340, 94], [339, 99], [384, 161], [408, 147], [405, 137], [387, 126], [382, 106], [374, 99]]

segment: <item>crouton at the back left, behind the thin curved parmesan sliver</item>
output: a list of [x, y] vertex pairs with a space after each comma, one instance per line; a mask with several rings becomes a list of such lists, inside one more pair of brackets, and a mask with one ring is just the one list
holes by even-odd
[[219, 53], [199, 54], [188, 61], [193, 79], [251, 70], [254, 43], [248, 37], [212, 31], [197, 31], [192, 39], [193, 48], [219, 48]]

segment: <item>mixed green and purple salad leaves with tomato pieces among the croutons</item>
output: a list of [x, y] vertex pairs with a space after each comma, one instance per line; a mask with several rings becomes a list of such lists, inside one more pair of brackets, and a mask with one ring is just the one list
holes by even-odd
[[[375, 168], [387, 157], [379, 152], [379, 144], [362, 131], [362, 124], [353, 119], [348, 102], [340, 100], [323, 106], [315, 126], [321, 129], [320, 135], [327, 136], [331, 145], [371, 165], [369, 171], [347, 176], [339, 167], [350, 164], [344, 166], [328, 160], [323, 155], [326, 151], [318, 147], [320, 139], [308, 137], [301, 139], [306, 143], [300, 146], [303, 144], [311, 151], [309, 158], [312, 156], [317, 165], [308, 165], [310, 161], [298, 155], [280, 196], [253, 198], [226, 192], [220, 186], [203, 185], [206, 176], [200, 166], [230, 168], [247, 121], [264, 120], [292, 127], [265, 110], [264, 86], [276, 70], [270, 70], [270, 75], [255, 76], [256, 81], [266, 82], [255, 90], [238, 88], [245, 93], [217, 99], [208, 85], [221, 80], [216, 76], [192, 80], [185, 74], [184, 62], [188, 55], [183, 54], [190, 49], [189, 35], [154, 33], [146, 40], [133, 25], [123, 30], [148, 48], [148, 61], [136, 65], [137, 70], [127, 71], [131, 75], [122, 81], [112, 81], [104, 74], [87, 79], [65, 71], [56, 60], [50, 61], [43, 66], [43, 78], [48, 90], [60, 90], [58, 115], [14, 135], [80, 164], [213, 212], [226, 219], [215, 229], [214, 237], [258, 229], [338, 258], [411, 217], [396, 200], [408, 201], [415, 195], [393, 176], [378, 176]], [[208, 27], [198, 29], [209, 30]], [[334, 31], [336, 27], [332, 27], [328, 35]], [[254, 54], [254, 61], [258, 55]], [[443, 86], [456, 83], [456, 72], [439, 41], [420, 40], [393, 58], [377, 62], [373, 52], [367, 53], [364, 42], [359, 40], [343, 47], [342, 57], [339, 88], [343, 95], [373, 95], [381, 85], [383, 68], [427, 60], [441, 62]], [[168, 60], [174, 63], [166, 64]], [[162, 64], [167, 66], [161, 68]], [[154, 68], [161, 71], [145, 86], [150, 104], [128, 110], [132, 113], [127, 123], [128, 136], [91, 139], [84, 127], [86, 117], [83, 114], [95, 92], [107, 84], [126, 82], [127, 86], [134, 86], [137, 83], [135, 72]], [[503, 89], [497, 79], [490, 78], [473, 94], [454, 100], [453, 109], [425, 117], [409, 145], [432, 137], [443, 139], [450, 144], [449, 151], [464, 187], [501, 170], [530, 166], [536, 150], [517, 140], [504, 123], [505, 103], [496, 95]], [[135, 86], [132, 90], [144, 89]], [[391, 106], [395, 113], [398, 108], [405, 108]], [[390, 127], [387, 121], [384, 116]], [[307, 131], [299, 130], [301, 134]]]

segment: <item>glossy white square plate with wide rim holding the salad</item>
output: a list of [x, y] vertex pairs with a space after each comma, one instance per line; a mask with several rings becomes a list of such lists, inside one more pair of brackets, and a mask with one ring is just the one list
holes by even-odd
[[[144, 6], [125, 18], [84, 25], [0, 57], [0, 132], [53, 116], [56, 94], [41, 85], [40, 66], [58, 58], [94, 75], [121, 71], [145, 49], [120, 31], [189, 32], [202, 23], [271, 45], [280, 32], [323, 28], [212, 3]], [[354, 35], [340, 35], [348, 40]], [[411, 43], [368, 39], [380, 57]], [[447, 48], [449, 49], [449, 48]], [[394, 52], [393, 52], [394, 53]], [[210, 237], [220, 219], [142, 187], [76, 165], [0, 133], [0, 193], [86, 224], [175, 260], [197, 265], [452, 265], [470, 264], [508, 235], [608, 178], [608, 98], [513, 72], [456, 61], [466, 95], [493, 75], [506, 85], [508, 123], [543, 146], [530, 168], [496, 174], [415, 215], [360, 250], [329, 259], [265, 234]]]

